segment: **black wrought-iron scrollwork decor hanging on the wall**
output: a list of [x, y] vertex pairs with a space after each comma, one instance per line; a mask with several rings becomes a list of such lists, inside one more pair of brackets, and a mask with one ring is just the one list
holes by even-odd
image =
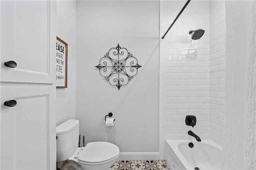
[[119, 44], [111, 48], [104, 57], [100, 59], [97, 67], [100, 75], [109, 82], [110, 85], [118, 87], [128, 84], [130, 80], [138, 73], [138, 60], [132, 56], [127, 49], [121, 48]]

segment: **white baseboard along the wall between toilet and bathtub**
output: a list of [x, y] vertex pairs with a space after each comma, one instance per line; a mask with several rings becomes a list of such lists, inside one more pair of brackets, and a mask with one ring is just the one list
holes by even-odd
[[120, 152], [118, 160], [159, 160], [159, 152]]

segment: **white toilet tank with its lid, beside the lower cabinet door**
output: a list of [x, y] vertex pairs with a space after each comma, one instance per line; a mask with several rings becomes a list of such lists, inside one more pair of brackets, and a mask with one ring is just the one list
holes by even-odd
[[56, 127], [57, 162], [67, 160], [78, 148], [79, 121], [69, 119]]

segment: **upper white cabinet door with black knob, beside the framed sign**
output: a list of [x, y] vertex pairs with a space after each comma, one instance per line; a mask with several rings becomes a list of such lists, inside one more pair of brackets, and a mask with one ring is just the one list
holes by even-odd
[[0, 81], [55, 83], [56, 1], [0, 1], [0, 21]]

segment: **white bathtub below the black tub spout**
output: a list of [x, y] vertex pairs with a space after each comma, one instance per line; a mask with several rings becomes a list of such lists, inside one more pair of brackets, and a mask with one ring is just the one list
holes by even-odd
[[166, 140], [164, 154], [172, 170], [220, 170], [221, 152], [222, 147], [211, 140]]

